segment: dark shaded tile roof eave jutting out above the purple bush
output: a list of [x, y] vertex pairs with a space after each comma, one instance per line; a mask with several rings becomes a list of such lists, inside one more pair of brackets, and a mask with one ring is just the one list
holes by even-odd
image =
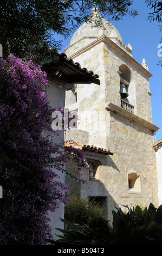
[[68, 58], [63, 52], [56, 54], [59, 60], [55, 63], [44, 65], [43, 69], [47, 72], [56, 71], [60, 72], [61, 78], [69, 83], [95, 83], [100, 85], [99, 75], [94, 74], [93, 71], [88, 71], [86, 68], [81, 68], [78, 62], [74, 62], [73, 59]]

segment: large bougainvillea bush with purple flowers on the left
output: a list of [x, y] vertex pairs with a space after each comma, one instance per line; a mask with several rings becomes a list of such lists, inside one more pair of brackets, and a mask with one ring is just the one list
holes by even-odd
[[0, 245], [44, 245], [48, 211], [55, 211], [56, 199], [67, 203], [68, 187], [52, 168], [63, 171], [68, 156], [53, 141], [46, 90], [46, 73], [31, 60], [1, 58]]

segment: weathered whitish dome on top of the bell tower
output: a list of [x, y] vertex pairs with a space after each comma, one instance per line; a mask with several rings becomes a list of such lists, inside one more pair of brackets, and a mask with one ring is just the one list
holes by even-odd
[[[94, 40], [94, 38], [98, 38], [101, 35], [106, 35], [115, 43], [119, 42], [119, 44], [123, 44], [118, 29], [116, 29], [111, 22], [103, 19], [103, 17], [99, 14], [98, 8], [94, 8], [92, 10], [92, 15], [90, 18], [90, 22], [83, 23], [83, 25], [74, 33], [70, 41], [70, 45], [73, 45], [84, 38], [93, 38]], [[97, 24], [100, 24], [100, 26], [96, 26]]]

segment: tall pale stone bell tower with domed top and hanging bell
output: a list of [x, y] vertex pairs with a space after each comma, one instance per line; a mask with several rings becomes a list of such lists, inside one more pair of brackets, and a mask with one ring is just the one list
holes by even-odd
[[[124, 45], [118, 30], [96, 8], [92, 22], [77, 29], [64, 52], [99, 75], [100, 86], [75, 84], [67, 92], [66, 106], [79, 122], [66, 139], [113, 152], [96, 172], [107, 190], [107, 210], [114, 204], [158, 205], [153, 143], [159, 127], [152, 124], [152, 75], [145, 59], [139, 64], [132, 57], [131, 45]], [[90, 188], [85, 191], [90, 196]], [[96, 196], [101, 194], [96, 191]]]

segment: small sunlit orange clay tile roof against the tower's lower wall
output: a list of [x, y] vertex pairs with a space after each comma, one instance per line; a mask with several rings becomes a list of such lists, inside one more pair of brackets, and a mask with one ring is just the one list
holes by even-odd
[[65, 147], [72, 146], [73, 148], [77, 148], [77, 149], [80, 149], [80, 150], [89, 150], [89, 151], [92, 151], [92, 152], [98, 152], [98, 153], [102, 153], [102, 154], [105, 154], [105, 155], [113, 155], [113, 153], [110, 150], [95, 147], [93, 145], [90, 146], [90, 145], [87, 145], [87, 144], [80, 144], [79, 142], [64, 142], [64, 146]]

